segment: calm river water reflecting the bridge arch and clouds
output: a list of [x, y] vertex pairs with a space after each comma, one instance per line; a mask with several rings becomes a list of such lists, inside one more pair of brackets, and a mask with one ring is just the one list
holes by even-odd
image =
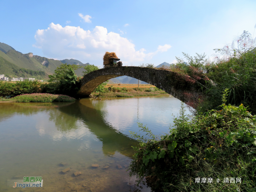
[[[7, 187], [7, 180], [27, 176], [44, 182], [24, 192], [133, 191], [135, 178], [129, 179], [126, 167], [138, 142], [129, 131], [138, 132], [139, 122], [154, 134], [166, 133], [180, 106], [170, 95], [0, 103], [0, 191], [20, 191]], [[67, 167], [71, 170], [61, 173]], [[74, 176], [76, 171], [82, 174]]]

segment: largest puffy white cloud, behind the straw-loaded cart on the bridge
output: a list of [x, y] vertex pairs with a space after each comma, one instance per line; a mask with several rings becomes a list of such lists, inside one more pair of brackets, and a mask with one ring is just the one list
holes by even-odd
[[[121, 32], [121, 31], [120, 31]], [[92, 31], [74, 26], [62, 27], [51, 23], [48, 29], [38, 29], [35, 33], [34, 47], [42, 49], [47, 57], [58, 59], [78, 59], [82, 62], [102, 63], [106, 51], [116, 52], [124, 63], [139, 62], [151, 58], [158, 52], [165, 52], [171, 46], [159, 45], [152, 53], [144, 48], [135, 49], [135, 45], [118, 33], [109, 32], [105, 27], [96, 26]]]

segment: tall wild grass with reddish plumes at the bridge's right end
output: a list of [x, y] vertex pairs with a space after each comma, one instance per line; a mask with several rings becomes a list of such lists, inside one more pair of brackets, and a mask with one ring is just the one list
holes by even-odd
[[179, 86], [193, 84], [203, 91], [204, 111], [218, 109], [222, 103], [221, 93], [229, 89], [226, 104], [239, 106], [243, 103], [256, 114], [255, 46], [256, 39], [244, 31], [231, 45], [214, 49], [214, 60], [207, 59], [205, 54], [196, 53], [192, 57], [183, 53], [187, 63], [176, 57], [176, 65], [160, 69], [176, 72], [174, 83]]

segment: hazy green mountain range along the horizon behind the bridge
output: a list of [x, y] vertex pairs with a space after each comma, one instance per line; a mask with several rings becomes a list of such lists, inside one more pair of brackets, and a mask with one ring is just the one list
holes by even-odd
[[[52, 75], [54, 70], [62, 63], [82, 66], [82, 68], [75, 71], [77, 76], [83, 76], [83, 67], [90, 65], [89, 63], [83, 64], [81, 61], [75, 59], [54, 60], [34, 55], [33, 53], [23, 54], [16, 51], [10, 45], [0, 42], [0, 74], [4, 74], [9, 78], [26, 76], [37, 79], [49, 79], [48, 75]], [[168, 66], [170, 64], [164, 62], [157, 67], [161, 67], [162, 65]], [[109, 83], [137, 84], [138, 79], [121, 76], [110, 79]], [[139, 83], [147, 84], [143, 81], [139, 81]]]

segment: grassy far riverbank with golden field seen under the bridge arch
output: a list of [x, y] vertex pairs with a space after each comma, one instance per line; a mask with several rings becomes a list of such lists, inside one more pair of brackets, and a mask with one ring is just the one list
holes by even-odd
[[168, 94], [157, 87], [153, 87], [152, 85], [145, 86], [143, 88], [132, 88], [132, 86], [134, 85], [131, 84], [131, 87], [128, 87], [127, 85], [123, 85], [123, 87], [111, 85], [106, 87], [106, 91], [104, 93], [93, 92], [90, 97], [135, 97]]

